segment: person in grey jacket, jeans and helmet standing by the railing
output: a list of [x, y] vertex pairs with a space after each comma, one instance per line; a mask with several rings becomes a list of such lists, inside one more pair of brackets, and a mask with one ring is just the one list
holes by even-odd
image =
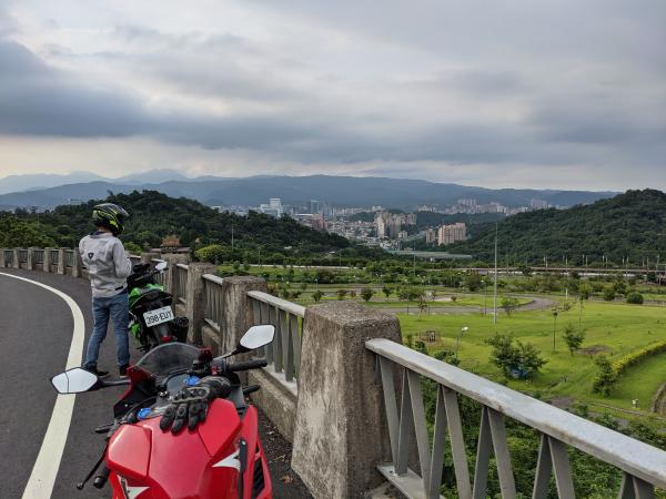
[[97, 367], [100, 346], [107, 336], [109, 319], [115, 330], [118, 369], [121, 378], [127, 377], [130, 364], [130, 342], [128, 337], [129, 303], [128, 276], [132, 263], [127, 257], [124, 246], [118, 235], [124, 228], [129, 216], [122, 207], [113, 203], [98, 204], [92, 210], [92, 222], [97, 231], [79, 243], [79, 252], [90, 275], [92, 287], [92, 315], [94, 326], [88, 340], [83, 368], [100, 377], [109, 375]]

